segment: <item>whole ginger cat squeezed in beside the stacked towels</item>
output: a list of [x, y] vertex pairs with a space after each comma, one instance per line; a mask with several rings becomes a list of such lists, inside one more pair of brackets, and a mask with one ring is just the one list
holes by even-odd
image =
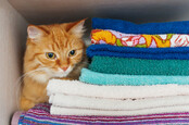
[[53, 25], [29, 25], [24, 57], [24, 84], [20, 107], [28, 110], [48, 102], [50, 78], [78, 79], [86, 66], [86, 46], [81, 39], [85, 20]]

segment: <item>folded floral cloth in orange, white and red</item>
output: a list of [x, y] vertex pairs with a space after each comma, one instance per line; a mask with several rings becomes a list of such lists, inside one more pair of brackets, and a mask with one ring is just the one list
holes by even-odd
[[188, 47], [189, 35], [182, 34], [161, 34], [161, 35], [134, 35], [124, 34], [111, 29], [93, 29], [91, 32], [91, 42], [106, 43], [121, 47], [142, 47], [142, 48], [168, 48]]

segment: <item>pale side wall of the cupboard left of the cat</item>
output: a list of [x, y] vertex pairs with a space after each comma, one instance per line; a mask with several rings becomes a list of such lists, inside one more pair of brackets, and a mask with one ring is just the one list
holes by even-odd
[[22, 73], [26, 21], [0, 0], [0, 125], [9, 125], [16, 111], [16, 79]]

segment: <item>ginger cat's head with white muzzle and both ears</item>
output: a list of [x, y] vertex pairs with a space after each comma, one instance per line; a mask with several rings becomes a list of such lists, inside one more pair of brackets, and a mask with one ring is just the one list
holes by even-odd
[[83, 60], [85, 43], [81, 40], [84, 21], [54, 25], [30, 25], [25, 53], [25, 73], [46, 82], [66, 77]]

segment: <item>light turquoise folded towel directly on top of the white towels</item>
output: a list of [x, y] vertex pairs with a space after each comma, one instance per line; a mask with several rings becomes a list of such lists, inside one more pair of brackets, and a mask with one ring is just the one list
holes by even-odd
[[189, 76], [118, 75], [92, 72], [87, 68], [81, 70], [79, 80], [94, 85], [114, 86], [144, 86], [166, 84], [189, 85]]

